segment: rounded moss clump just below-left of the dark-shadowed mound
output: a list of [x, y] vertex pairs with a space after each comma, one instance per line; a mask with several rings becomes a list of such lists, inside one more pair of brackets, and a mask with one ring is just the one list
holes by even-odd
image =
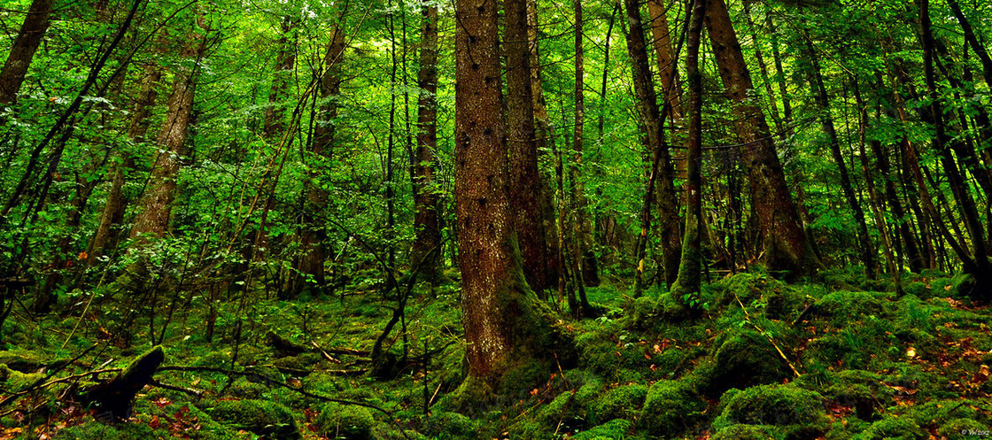
[[638, 420], [650, 435], [675, 437], [695, 425], [706, 402], [685, 381], [659, 381], [651, 385]]

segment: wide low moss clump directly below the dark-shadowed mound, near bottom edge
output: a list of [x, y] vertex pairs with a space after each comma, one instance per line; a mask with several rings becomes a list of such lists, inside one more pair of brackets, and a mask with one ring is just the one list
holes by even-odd
[[796, 385], [762, 385], [731, 389], [720, 399], [723, 410], [713, 427], [749, 425], [810, 425], [823, 416], [823, 396]]

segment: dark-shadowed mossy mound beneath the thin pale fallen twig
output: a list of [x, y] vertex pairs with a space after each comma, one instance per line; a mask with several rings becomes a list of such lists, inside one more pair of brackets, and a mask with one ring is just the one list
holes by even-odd
[[730, 388], [775, 384], [790, 376], [789, 366], [764, 336], [739, 330], [724, 336], [713, 355], [706, 395], [718, 396]]

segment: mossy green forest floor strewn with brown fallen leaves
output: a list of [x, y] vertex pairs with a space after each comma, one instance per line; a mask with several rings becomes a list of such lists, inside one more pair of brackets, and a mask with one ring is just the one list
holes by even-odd
[[604, 313], [565, 322], [576, 365], [460, 413], [448, 398], [464, 375], [456, 283], [414, 291], [379, 378], [367, 354], [396, 299], [376, 289], [235, 294], [215, 302], [209, 340], [205, 299], [184, 293], [165, 362], [123, 421], [73, 396], [149, 351], [169, 315], [126, 319], [110, 293], [82, 314], [92, 292], [77, 291], [62, 314], [18, 306], [4, 323], [0, 438], [978, 438], [992, 430], [992, 315], [967, 281], [909, 275], [897, 295], [851, 273], [739, 274], [706, 286], [691, 319], [667, 313], [663, 292], [589, 288]]

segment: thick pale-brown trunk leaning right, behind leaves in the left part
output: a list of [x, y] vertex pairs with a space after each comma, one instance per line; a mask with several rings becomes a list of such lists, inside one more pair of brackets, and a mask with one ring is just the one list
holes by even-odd
[[[183, 56], [197, 63], [206, 51], [205, 40], [197, 34], [187, 37]], [[145, 193], [138, 202], [131, 238], [144, 243], [146, 236], [163, 237], [169, 232], [173, 200], [180, 173], [180, 158], [186, 156], [186, 136], [192, 116], [193, 95], [196, 91], [195, 66], [180, 68], [173, 80], [166, 121], [156, 140], [159, 154], [152, 163]]]

